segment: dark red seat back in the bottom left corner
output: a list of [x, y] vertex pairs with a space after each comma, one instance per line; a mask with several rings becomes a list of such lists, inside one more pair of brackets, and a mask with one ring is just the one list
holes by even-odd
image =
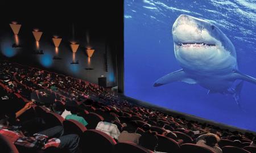
[[18, 153], [19, 151], [5, 136], [0, 134], [0, 152], [4, 153]]

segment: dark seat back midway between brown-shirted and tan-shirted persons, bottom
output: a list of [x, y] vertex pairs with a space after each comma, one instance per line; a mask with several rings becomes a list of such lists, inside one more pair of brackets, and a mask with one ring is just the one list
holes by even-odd
[[158, 137], [158, 146], [156, 147], [156, 151], [180, 152], [180, 146], [174, 139], [159, 134], [156, 135], [156, 137]]

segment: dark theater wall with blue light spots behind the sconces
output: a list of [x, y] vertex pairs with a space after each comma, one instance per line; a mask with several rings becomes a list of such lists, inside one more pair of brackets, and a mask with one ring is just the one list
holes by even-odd
[[[115, 78], [117, 70], [116, 60], [119, 53], [123, 52], [123, 6], [122, 2], [115, 3], [120, 7], [115, 8], [113, 2], [102, 3], [40, 3], [37, 8], [20, 5], [11, 5], [5, 2], [5, 10], [9, 15], [3, 16], [0, 25], [0, 53], [1, 59], [23, 63], [49, 71], [73, 76], [98, 84], [102, 75], [107, 78], [107, 86], [117, 86]], [[58, 7], [57, 7], [58, 6]], [[86, 7], [84, 7], [86, 6]], [[40, 7], [40, 8], [39, 8]], [[24, 9], [27, 9], [24, 11]], [[47, 8], [48, 11], [38, 11]], [[11, 11], [10, 11], [11, 10]], [[51, 11], [54, 10], [54, 11]], [[96, 13], [97, 12], [97, 13]], [[22, 49], [12, 48], [14, 43], [13, 31], [9, 24], [17, 21], [22, 24], [19, 31], [19, 41]], [[32, 30], [39, 28], [43, 32], [40, 39], [40, 50], [44, 54], [31, 54], [35, 50], [35, 38]], [[52, 42], [53, 35], [63, 40], [59, 46], [61, 60], [53, 60], [55, 46]], [[87, 39], [86, 39], [87, 37]], [[80, 44], [76, 53], [79, 64], [72, 62], [72, 50], [69, 41], [75, 40]], [[88, 61], [86, 47], [95, 51]], [[108, 71], [105, 66], [105, 53], [107, 52]], [[75, 60], [75, 61], [76, 61]], [[93, 70], [85, 70], [92, 68]]]

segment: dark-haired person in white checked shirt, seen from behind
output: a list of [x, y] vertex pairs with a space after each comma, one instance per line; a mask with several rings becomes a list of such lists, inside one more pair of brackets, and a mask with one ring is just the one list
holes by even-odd
[[102, 131], [102, 132], [110, 135], [110, 137], [118, 140], [120, 131], [117, 128], [117, 125], [113, 124], [115, 121], [115, 118], [113, 116], [110, 116], [110, 121], [111, 121], [111, 123], [103, 122], [103, 121], [98, 122], [98, 125], [96, 126], [96, 130]]

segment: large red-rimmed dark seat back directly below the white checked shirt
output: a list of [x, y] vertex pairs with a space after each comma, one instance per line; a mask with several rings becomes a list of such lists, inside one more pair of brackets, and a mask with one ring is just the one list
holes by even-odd
[[85, 142], [82, 144], [86, 152], [101, 153], [112, 152], [115, 140], [108, 134], [98, 130], [86, 130], [84, 132]]

